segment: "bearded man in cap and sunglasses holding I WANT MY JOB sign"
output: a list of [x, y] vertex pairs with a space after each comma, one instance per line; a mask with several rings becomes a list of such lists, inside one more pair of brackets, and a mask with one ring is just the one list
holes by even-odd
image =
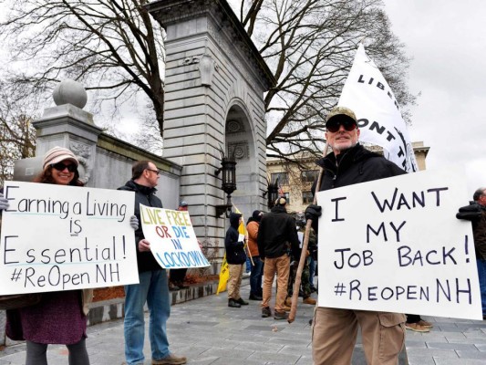
[[[331, 110], [326, 118], [326, 141], [332, 152], [318, 162], [324, 173], [321, 185], [315, 186], [314, 192], [405, 173], [395, 163], [361, 146], [359, 133], [352, 110], [345, 107]], [[318, 205], [309, 205], [305, 210], [305, 218], [312, 219], [315, 230], [320, 215]], [[318, 307], [312, 339], [314, 362], [316, 365], [350, 364], [359, 325], [367, 363], [395, 365], [405, 341], [404, 323], [405, 316], [398, 313]]]

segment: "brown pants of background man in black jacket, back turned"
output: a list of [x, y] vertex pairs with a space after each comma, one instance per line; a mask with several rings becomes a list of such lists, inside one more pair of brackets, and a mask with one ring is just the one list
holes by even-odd
[[282, 255], [276, 258], [265, 258], [264, 263], [264, 300], [262, 308], [270, 307], [272, 298], [272, 284], [275, 273], [277, 275], [277, 297], [275, 298], [275, 310], [284, 311], [284, 302], [287, 297], [288, 274], [290, 271], [290, 257]]

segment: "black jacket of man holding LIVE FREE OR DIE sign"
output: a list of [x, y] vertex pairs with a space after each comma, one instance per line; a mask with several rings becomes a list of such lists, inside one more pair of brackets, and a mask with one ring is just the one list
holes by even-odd
[[125, 183], [125, 185], [120, 186], [118, 190], [135, 192], [135, 215], [137, 215], [137, 218], [139, 219], [139, 229], [135, 231], [135, 245], [137, 250], [137, 265], [139, 266], [139, 272], [163, 270], [151, 252], [139, 251], [139, 242], [145, 238], [141, 230], [140, 203], [143, 205], [162, 208], [162, 202], [160, 202], [160, 199], [155, 195], [157, 189], [143, 186], [135, 183], [133, 180], [129, 180], [127, 183]]

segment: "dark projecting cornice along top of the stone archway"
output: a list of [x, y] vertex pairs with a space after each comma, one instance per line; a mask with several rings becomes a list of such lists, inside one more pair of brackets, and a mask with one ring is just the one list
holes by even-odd
[[254, 62], [264, 77], [265, 89], [276, 85], [274, 74], [225, 0], [158, 0], [145, 5], [145, 8], [163, 28], [198, 16], [211, 17], [233, 37], [234, 47], [239, 47], [242, 54]]

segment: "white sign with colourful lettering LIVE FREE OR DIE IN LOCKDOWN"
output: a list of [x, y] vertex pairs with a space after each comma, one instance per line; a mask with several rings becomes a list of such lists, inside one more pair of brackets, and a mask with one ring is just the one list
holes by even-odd
[[189, 212], [140, 204], [140, 220], [150, 251], [163, 268], [211, 265], [202, 255]]

